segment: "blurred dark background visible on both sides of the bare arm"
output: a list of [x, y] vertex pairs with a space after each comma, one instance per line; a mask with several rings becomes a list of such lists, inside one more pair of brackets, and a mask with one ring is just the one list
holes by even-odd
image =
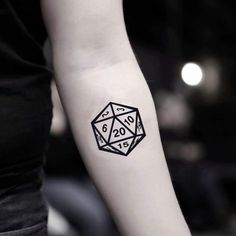
[[[129, 0], [124, 10], [186, 221], [193, 235], [236, 235], [234, 3]], [[50, 235], [120, 235], [80, 160], [54, 83], [52, 91]]]

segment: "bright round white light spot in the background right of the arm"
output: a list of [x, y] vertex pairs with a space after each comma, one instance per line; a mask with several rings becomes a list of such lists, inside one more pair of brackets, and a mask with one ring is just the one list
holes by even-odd
[[190, 86], [197, 86], [201, 83], [203, 72], [196, 63], [187, 63], [183, 66], [181, 71], [183, 81]]

